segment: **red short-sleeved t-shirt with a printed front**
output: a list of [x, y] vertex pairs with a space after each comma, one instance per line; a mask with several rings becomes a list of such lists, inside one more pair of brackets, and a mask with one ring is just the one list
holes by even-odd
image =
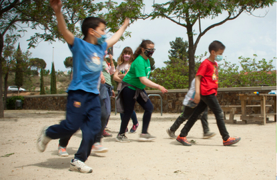
[[207, 96], [215, 93], [217, 95], [218, 88], [218, 67], [216, 62], [211, 62], [208, 59], [204, 60], [199, 66], [196, 75], [202, 75], [200, 81], [200, 93], [202, 96]]

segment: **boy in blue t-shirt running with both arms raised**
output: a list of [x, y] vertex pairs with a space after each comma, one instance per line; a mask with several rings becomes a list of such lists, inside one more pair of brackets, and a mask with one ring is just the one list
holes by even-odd
[[44, 127], [37, 139], [37, 149], [44, 152], [49, 141], [72, 136], [80, 128], [82, 142], [74, 159], [71, 160], [70, 170], [91, 173], [92, 168], [84, 164], [84, 161], [87, 161], [96, 134], [101, 128], [101, 107], [97, 86], [103, 56], [107, 48], [116, 44], [123, 35], [129, 25], [129, 19], [125, 19], [123, 26], [105, 42], [106, 22], [97, 17], [87, 17], [82, 21], [84, 39], [80, 39], [74, 37], [66, 28], [61, 10], [62, 1], [51, 0], [50, 4], [57, 17], [57, 26], [73, 53], [74, 73], [67, 91], [66, 120], [62, 120], [60, 125]]

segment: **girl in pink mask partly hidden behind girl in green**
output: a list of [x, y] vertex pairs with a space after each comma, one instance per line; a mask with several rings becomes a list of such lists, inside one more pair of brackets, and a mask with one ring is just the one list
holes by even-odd
[[[122, 53], [118, 57], [118, 65], [116, 66], [116, 72], [114, 73], [114, 80], [118, 82], [118, 87], [117, 87], [118, 93], [121, 89], [121, 81], [125, 77], [126, 73], [129, 71], [129, 68], [132, 64], [132, 62], [130, 61], [132, 55], [133, 55], [132, 48], [125, 47], [125, 48], [123, 48]], [[122, 120], [123, 113], [120, 113], [120, 118]], [[136, 118], [135, 111], [133, 111], [131, 118], [133, 121], [133, 126], [129, 132], [135, 133], [136, 129], [139, 127], [139, 122], [138, 122], [138, 119]], [[125, 132], [128, 132], [128, 128], [125, 130]]]

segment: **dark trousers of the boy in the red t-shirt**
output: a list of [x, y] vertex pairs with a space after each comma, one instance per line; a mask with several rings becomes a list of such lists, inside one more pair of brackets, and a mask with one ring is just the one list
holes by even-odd
[[208, 96], [201, 96], [201, 100], [199, 104], [197, 105], [197, 107], [195, 107], [195, 111], [193, 112], [193, 115], [190, 116], [190, 118], [188, 119], [188, 122], [181, 130], [180, 136], [188, 135], [188, 132], [190, 132], [191, 127], [193, 127], [193, 125], [195, 124], [199, 114], [202, 114], [202, 112], [206, 109], [207, 106], [211, 109], [211, 111], [213, 111], [213, 114], [215, 114], [217, 127], [220, 130], [220, 135], [222, 136], [222, 139], [226, 141], [230, 137], [225, 127], [223, 111], [220, 107], [220, 103], [218, 102], [215, 94], [211, 94]]

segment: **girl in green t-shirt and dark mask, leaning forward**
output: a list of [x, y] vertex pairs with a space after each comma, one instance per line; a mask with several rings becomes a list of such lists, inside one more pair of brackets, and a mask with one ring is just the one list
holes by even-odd
[[122, 87], [118, 98], [123, 102], [124, 114], [121, 118], [120, 131], [116, 137], [116, 141], [127, 143], [128, 138], [125, 136], [125, 129], [129, 123], [129, 119], [134, 111], [136, 102], [143, 107], [143, 128], [139, 136], [139, 141], [153, 141], [156, 137], [148, 133], [148, 126], [151, 120], [153, 105], [147, 96], [144, 88], [152, 87], [161, 90], [162, 93], [167, 93], [168, 90], [159, 84], [148, 80], [150, 75], [150, 61], [148, 58], [154, 53], [154, 43], [150, 40], [143, 40], [131, 57], [131, 67], [122, 80]]

